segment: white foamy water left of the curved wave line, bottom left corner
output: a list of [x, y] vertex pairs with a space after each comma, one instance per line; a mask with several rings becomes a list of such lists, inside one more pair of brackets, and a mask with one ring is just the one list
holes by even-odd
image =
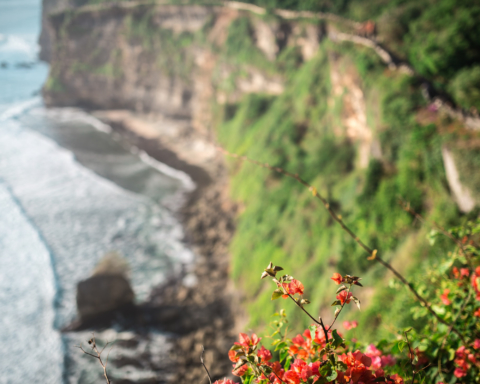
[[[0, 182], [0, 383], [62, 382], [49, 251]], [[8, 346], [8, 347], [7, 347]]]

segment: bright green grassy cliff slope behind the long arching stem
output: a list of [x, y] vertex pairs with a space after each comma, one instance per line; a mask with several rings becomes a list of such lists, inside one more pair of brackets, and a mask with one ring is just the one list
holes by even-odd
[[[372, 159], [366, 169], [355, 161], [358, 144], [338, 134], [342, 106], [328, 107], [333, 98], [332, 53], [350, 60], [362, 74], [369, 124], [382, 148], [381, 160]], [[249, 95], [234, 108], [225, 108], [218, 137], [229, 151], [284, 167], [317, 186], [360, 238], [419, 281], [417, 267], [428, 264], [447, 245], [430, 247], [426, 230], [401, 209], [398, 198], [446, 226], [459, 217], [441, 157], [448, 136], [439, 135], [433, 124], [417, 123], [416, 112], [422, 107], [411, 78], [385, 71], [368, 51], [324, 44], [292, 76], [282, 95]], [[292, 309], [290, 303], [272, 303], [272, 287], [259, 279], [270, 261], [300, 279], [312, 308], [322, 306], [324, 311], [331, 311], [323, 297], [332, 290], [333, 272], [364, 276], [365, 285], [373, 290], [361, 296], [365, 309], [352, 314], [363, 320], [362, 338], [372, 332], [377, 338], [387, 336], [390, 330], [383, 324], [411, 324], [405, 310], [410, 294], [395, 285], [375, 294], [377, 285], [388, 286], [389, 277], [366, 260], [308, 190], [248, 163], [232, 161], [231, 170], [233, 197], [245, 207], [231, 245], [232, 274], [247, 295], [252, 327], [268, 322], [268, 314], [279, 305]], [[379, 318], [385, 300], [391, 310]], [[306, 323], [297, 311], [290, 313]]]

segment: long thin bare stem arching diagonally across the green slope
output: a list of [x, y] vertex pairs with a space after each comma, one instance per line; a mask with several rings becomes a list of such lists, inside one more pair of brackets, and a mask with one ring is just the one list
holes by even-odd
[[[269, 169], [271, 171], [274, 171], [274, 172], [277, 172], [277, 173], [280, 173], [280, 174], [283, 174], [287, 177], [290, 177], [296, 181], [298, 181], [300, 184], [302, 184], [303, 186], [307, 187], [309, 191], [312, 192], [312, 195], [317, 198], [318, 200], [321, 201], [321, 203], [323, 204], [323, 206], [325, 207], [325, 209], [328, 211], [328, 213], [330, 214], [330, 216], [340, 225], [340, 227], [342, 227], [342, 229], [348, 233], [348, 235], [353, 239], [355, 240], [355, 242], [369, 255], [368, 259], [369, 260], [375, 260], [377, 261], [378, 263], [380, 263], [382, 266], [384, 266], [385, 268], [387, 268], [389, 271], [391, 271], [401, 282], [403, 285], [405, 285], [409, 290], [410, 292], [413, 293], [413, 295], [415, 296], [415, 298], [420, 301], [426, 308], [427, 310], [442, 324], [445, 324], [447, 326], [449, 326], [450, 324], [448, 322], [446, 322], [445, 320], [443, 320], [439, 315], [437, 315], [437, 313], [432, 309], [430, 303], [424, 299], [418, 292], [417, 290], [413, 287], [413, 285], [405, 278], [402, 276], [402, 274], [400, 274], [400, 272], [398, 272], [390, 263], [386, 262], [385, 260], [381, 259], [379, 256], [378, 256], [378, 252], [376, 249], [371, 249], [370, 247], [368, 247], [362, 240], [360, 240], [360, 238], [350, 229], [347, 227], [347, 225], [343, 222], [342, 220], [342, 217], [340, 215], [337, 215], [335, 213], [335, 211], [332, 209], [332, 207], [330, 206], [330, 204], [328, 203], [328, 201], [318, 193], [317, 189], [307, 183], [305, 180], [303, 180], [300, 176], [298, 176], [298, 174], [293, 174], [291, 172], [288, 172], [286, 171], [285, 169], [283, 168], [280, 168], [280, 167], [274, 167], [274, 166], [271, 166], [270, 164], [268, 163], [261, 163], [260, 161], [257, 161], [257, 160], [253, 160], [253, 159], [250, 159], [248, 158], [247, 156], [241, 156], [241, 155], [238, 155], [236, 153], [232, 153], [232, 152], [229, 152], [227, 151], [226, 149], [220, 147], [220, 146], [217, 146], [217, 149], [224, 153], [225, 155], [227, 156], [230, 156], [230, 157], [233, 157], [233, 158], [236, 158], [236, 159], [239, 159], [239, 160], [242, 160], [242, 161], [247, 161], [249, 163], [252, 163], [252, 164], [255, 164], [259, 167], [262, 167], [262, 168], [266, 168], [266, 169]], [[460, 332], [455, 328], [453, 327], [452, 328], [452, 331], [455, 332], [462, 340], [463, 340], [463, 336], [460, 334]]]

